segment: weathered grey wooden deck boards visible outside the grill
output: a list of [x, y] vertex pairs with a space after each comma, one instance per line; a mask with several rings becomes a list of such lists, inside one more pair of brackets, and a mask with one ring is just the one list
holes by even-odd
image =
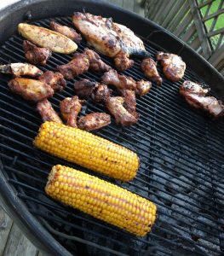
[[[135, 11], [139, 15], [144, 15], [141, 9], [140, 0], [109, 0], [107, 2], [117, 4], [123, 9]], [[4, 212], [0, 203], [0, 256], [47, 256], [37, 250], [13, 220]]]

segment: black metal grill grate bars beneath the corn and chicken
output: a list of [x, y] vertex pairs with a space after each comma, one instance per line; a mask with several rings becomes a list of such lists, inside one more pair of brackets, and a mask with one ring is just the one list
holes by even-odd
[[[70, 18], [55, 18], [72, 25]], [[49, 26], [49, 20], [36, 22]], [[9, 38], [0, 48], [3, 63], [25, 61], [22, 38]], [[159, 47], [144, 41], [152, 56]], [[78, 47], [83, 51], [86, 44]], [[101, 56], [106, 63], [112, 61]], [[53, 54], [45, 70], [71, 60], [72, 55]], [[125, 74], [142, 79], [140, 61]], [[158, 66], [160, 74], [161, 68]], [[163, 77], [163, 74], [162, 74]], [[79, 78], [100, 81], [95, 73]], [[78, 79], [79, 79], [78, 78]], [[164, 77], [163, 77], [164, 78]], [[114, 183], [144, 196], [158, 205], [158, 220], [144, 238], [131, 236], [81, 212], [50, 200], [43, 191], [51, 166], [72, 165], [40, 152], [32, 146], [41, 119], [31, 102], [9, 92], [9, 77], [0, 75], [1, 159], [9, 183], [49, 232], [71, 253], [78, 255], [219, 255], [224, 253], [224, 122], [214, 122], [188, 108], [178, 88], [184, 79], [203, 83], [187, 67], [184, 79], [172, 84], [167, 79], [161, 87], [153, 84], [151, 92], [137, 100], [141, 113], [138, 123], [122, 127], [112, 122], [96, 133], [134, 150], [141, 158], [141, 168], [130, 183]], [[74, 80], [75, 81], [75, 80]], [[59, 102], [73, 95], [73, 82], [50, 99], [59, 110]], [[89, 101], [83, 113], [104, 111]], [[101, 177], [101, 175], [98, 175]]]

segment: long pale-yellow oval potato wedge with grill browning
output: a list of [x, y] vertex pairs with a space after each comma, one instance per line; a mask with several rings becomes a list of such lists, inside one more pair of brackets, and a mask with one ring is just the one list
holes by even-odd
[[18, 31], [33, 44], [49, 48], [57, 53], [70, 54], [78, 49], [78, 45], [71, 39], [42, 26], [20, 23], [18, 25]]

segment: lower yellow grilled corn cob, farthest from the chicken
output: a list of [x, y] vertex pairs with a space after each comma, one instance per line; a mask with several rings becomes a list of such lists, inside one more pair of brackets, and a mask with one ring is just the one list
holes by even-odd
[[136, 236], [145, 236], [156, 219], [157, 207], [151, 201], [66, 166], [53, 166], [45, 191], [55, 200]]

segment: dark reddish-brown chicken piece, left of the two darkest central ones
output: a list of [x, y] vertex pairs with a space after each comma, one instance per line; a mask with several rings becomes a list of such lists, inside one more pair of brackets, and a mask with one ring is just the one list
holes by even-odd
[[76, 95], [80, 99], [88, 99], [91, 95], [92, 91], [95, 88], [96, 83], [89, 81], [89, 79], [80, 79], [75, 82], [74, 84], [74, 90]]

